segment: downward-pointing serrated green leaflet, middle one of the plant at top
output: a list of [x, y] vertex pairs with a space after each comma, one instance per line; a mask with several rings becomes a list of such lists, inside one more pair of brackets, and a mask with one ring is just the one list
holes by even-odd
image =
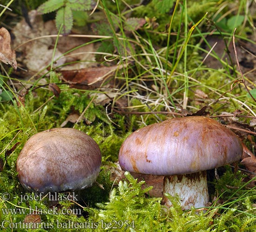
[[[61, 25], [62, 28], [61, 28]], [[56, 14], [56, 27], [58, 30], [61, 28], [61, 34], [68, 34], [73, 26], [73, 14], [71, 7], [67, 4], [65, 7], [61, 7]]]

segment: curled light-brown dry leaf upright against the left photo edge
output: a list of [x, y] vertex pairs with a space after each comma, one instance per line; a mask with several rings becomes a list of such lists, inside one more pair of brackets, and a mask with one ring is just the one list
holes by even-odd
[[0, 61], [17, 69], [16, 53], [11, 49], [11, 36], [6, 28], [0, 28]]

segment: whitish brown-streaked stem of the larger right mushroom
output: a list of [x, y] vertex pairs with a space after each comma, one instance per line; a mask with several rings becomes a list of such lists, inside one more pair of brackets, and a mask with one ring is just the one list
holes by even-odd
[[[207, 174], [206, 171], [166, 176], [163, 182], [163, 193], [169, 193], [172, 196], [178, 194], [182, 210], [202, 208], [209, 201]], [[172, 206], [171, 201], [164, 196], [164, 204], [167, 207]]]

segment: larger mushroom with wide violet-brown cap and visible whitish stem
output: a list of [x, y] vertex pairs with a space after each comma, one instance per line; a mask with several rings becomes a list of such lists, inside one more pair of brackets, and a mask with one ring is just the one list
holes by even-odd
[[[206, 170], [238, 161], [238, 136], [203, 116], [168, 119], [136, 130], [123, 142], [119, 164], [125, 171], [163, 175], [163, 193], [178, 194], [183, 210], [209, 201]], [[166, 206], [170, 200], [164, 196]]]

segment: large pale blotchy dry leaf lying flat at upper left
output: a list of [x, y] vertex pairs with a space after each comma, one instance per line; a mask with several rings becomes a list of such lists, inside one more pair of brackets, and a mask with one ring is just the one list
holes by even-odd
[[[14, 47], [17, 47], [16, 52], [20, 53], [17, 59], [19, 64], [23, 65], [24, 69], [27, 69], [26, 72], [22, 72], [23, 78], [31, 77], [39, 71], [43, 74], [47, 73], [45, 67], [51, 63], [54, 51], [53, 47], [56, 41], [56, 37], [48, 37], [47, 35], [58, 34], [54, 20], [44, 22], [42, 15], [39, 15], [36, 10], [30, 11], [28, 18], [33, 28], [27, 24], [25, 19], [22, 19], [13, 28], [13, 34], [15, 36], [13, 40]], [[34, 39], [39, 37], [40, 39]], [[27, 42], [30, 39], [32, 40]], [[85, 38], [58, 38], [54, 55], [54, 59], [57, 60], [54, 62], [54, 68], [79, 70], [94, 64], [94, 43], [87, 44], [87, 42], [88, 39]]]

